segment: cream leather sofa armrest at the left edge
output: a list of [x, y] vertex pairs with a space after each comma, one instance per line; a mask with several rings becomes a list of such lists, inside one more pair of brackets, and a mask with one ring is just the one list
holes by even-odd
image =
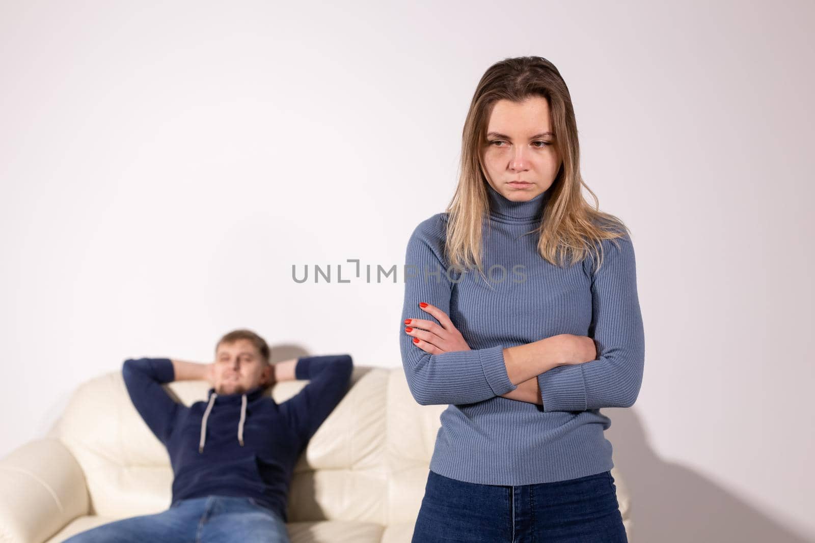
[[0, 460], [0, 541], [41, 543], [89, 507], [85, 475], [59, 440], [33, 440]]

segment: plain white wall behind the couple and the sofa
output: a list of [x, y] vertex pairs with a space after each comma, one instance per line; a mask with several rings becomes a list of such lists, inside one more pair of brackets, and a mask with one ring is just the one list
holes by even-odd
[[813, 11], [3, 2], [0, 455], [85, 379], [239, 326], [399, 366], [401, 282], [291, 266], [403, 263], [482, 72], [541, 55], [637, 251], [645, 379], [607, 410], [637, 541], [813, 541]]

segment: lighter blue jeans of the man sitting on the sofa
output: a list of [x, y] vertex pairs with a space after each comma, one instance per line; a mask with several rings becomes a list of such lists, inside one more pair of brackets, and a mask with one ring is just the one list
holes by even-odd
[[64, 543], [289, 543], [280, 515], [250, 497], [208, 496], [178, 501], [156, 515], [121, 519]]

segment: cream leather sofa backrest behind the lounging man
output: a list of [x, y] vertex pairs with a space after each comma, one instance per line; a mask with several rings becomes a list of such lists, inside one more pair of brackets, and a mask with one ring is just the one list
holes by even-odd
[[[305, 385], [277, 383], [271, 395], [282, 403]], [[191, 405], [205, 398], [209, 383], [166, 388]], [[349, 392], [295, 466], [289, 522], [415, 520], [446, 407], [416, 404], [401, 366], [355, 367]], [[77, 388], [55, 433], [85, 472], [92, 514], [121, 518], [170, 506], [170, 458], [134, 408], [120, 371]]]

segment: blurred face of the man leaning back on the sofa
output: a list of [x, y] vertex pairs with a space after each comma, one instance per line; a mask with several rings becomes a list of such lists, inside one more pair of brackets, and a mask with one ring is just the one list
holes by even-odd
[[249, 339], [219, 344], [215, 351], [214, 389], [218, 394], [243, 394], [271, 383], [272, 367]]

